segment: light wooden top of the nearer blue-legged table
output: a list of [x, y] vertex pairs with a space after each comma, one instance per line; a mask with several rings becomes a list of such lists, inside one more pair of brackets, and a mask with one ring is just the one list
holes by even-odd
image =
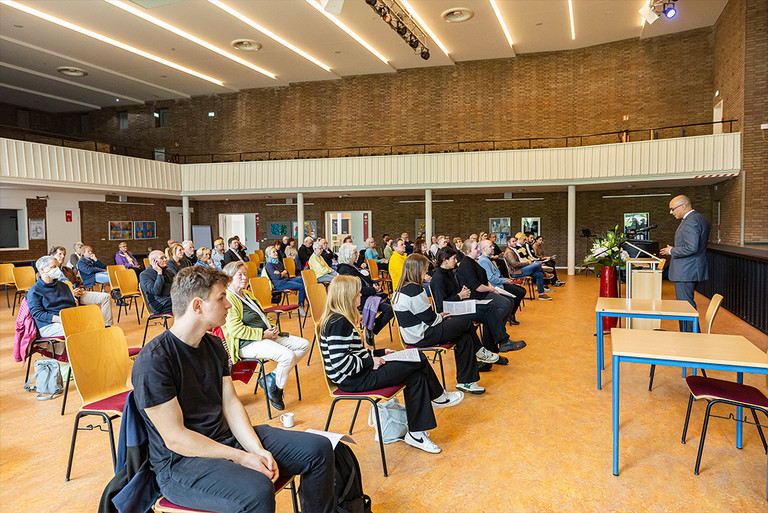
[[613, 354], [768, 369], [768, 355], [741, 335], [611, 329]]

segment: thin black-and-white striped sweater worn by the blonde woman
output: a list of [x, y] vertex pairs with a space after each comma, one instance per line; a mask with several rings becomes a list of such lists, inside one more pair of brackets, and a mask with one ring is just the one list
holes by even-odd
[[320, 333], [320, 352], [325, 374], [336, 384], [373, 367], [373, 355], [363, 347], [352, 324], [340, 314], [333, 314]]

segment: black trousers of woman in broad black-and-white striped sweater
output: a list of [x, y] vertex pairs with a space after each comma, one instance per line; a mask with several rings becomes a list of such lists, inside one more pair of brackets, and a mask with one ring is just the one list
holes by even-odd
[[480, 379], [475, 357], [475, 353], [480, 349], [480, 339], [472, 320], [466, 316], [448, 317], [437, 326], [430, 326], [424, 332], [424, 338], [413, 345], [431, 347], [449, 342], [456, 344], [453, 348], [453, 357], [456, 359], [456, 382], [474, 383]]

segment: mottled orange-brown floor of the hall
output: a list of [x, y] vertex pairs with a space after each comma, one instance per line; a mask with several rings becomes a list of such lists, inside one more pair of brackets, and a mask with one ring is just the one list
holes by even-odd
[[[688, 443], [680, 443], [687, 389], [680, 370], [659, 367], [648, 392], [648, 367], [622, 368], [620, 475], [611, 473], [611, 371], [595, 388], [594, 304], [598, 280], [568, 277], [553, 301], [528, 302], [518, 314], [513, 338], [528, 343], [508, 353], [507, 367], [482, 374], [483, 396], [467, 396], [456, 407], [437, 410], [432, 439], [442, 447], [427, 454], [404, 443], [386, 447], [389, 477], [383, 477], [378, 444], [367, 426], [367, 409], [355, 426], [354, 451], [363, 471], [373, 510], [382, 512], [526, 512], [526, 511], [768, 511], [766, 456], [756, 430], [746, 426], [744, 449], [735, 447], [735, 424], [710, 423], [701, 475], [693, 474], [704, 407], [694, 405]], [[670, 283], [664, 297], [673, 298]], [[697, 294], [699, 311], [708, 300]], [[115, 318], [117, 309], [115, 308]], [[295, 317], [294, 317], [295, 319]], [[143, 321], [142, 321], [143, 322]], [[677, 329], [676, 322], [662, 327]], [[141, 344], [144, 325], [135, 315], [119, 326], [129, 345]], [[156, 335], [161, 328], [150, 328]], [[283, 329], [298, 334], [293, 321]], [[81, 432], [70, 482], [64, 481], [74, 413], [70, 395], [59, 415], [61, 398], [36, 401], [22, 390], [24, 370], [13, 361], [14, 318], [5, 300], [0, 307], [0, 511], [92, 512], [112, 476], [108, 437]], [[309, 330], [308, 330], [309, 331]], [[768, 337], [721, 310], [713, 332], [741, 334], [768, 349]], [[610, 337], [606, 338], [610, 354]], [[391, 344], [384, 330], [379, 346]], [[452, 357], [446, 377], [455, 385]], [[317, 352], [311, 366], [299, 366], [303, 400], [293, 376], [286, 390], [286, 411], [296, 427], [322, 429], [330, 399]], [[710, 375], [733, 374], [712, 372]], [[745, 382], [766, 389], [764, 377]], [[254, 423], [267, 420], [262, 393], [238, 383], [238, 393]], [[74, 392], [74, 389], [72, 390]], [[342, 404], [332, 430], [344, 431], [353, 406]], [[278, 496], [278, 511], [290, 511], [288, 493]]]

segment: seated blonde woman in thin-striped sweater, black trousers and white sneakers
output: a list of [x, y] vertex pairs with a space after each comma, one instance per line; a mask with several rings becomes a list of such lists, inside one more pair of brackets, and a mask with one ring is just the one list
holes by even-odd
[[360, 280], [354, 276], [337, 276], [328, 287], [328, 300], [320, 319], [320, 351], [325, 374], [344, 392], [405, 385], [408, 433], [404, 441], [437, 454], [440, 447], [429, 439], [428, 433], [437, 427], [433, 408], [458, 404], [464, 394], [443, 390], [423, 354], [419, 355], [418, 362], [387, 362], [381, 356], [394, 352], [391, 349], [377, 350], [374, 355], [363, 347], [358, 327], [360, 288]]

